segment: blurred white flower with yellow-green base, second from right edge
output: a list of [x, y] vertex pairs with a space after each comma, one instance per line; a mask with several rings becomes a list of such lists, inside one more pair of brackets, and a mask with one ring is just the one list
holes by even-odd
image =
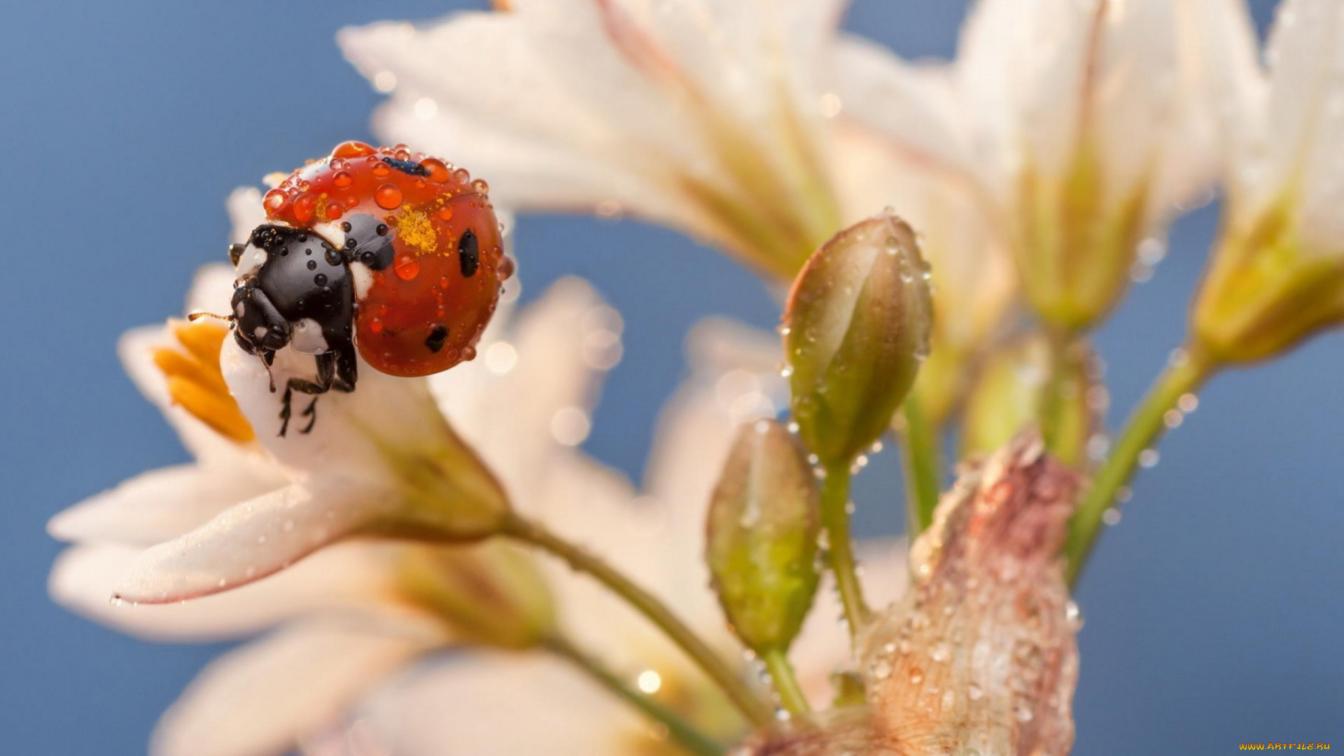
[[1038, 312], [1085, 328], [1141, 242], [1159, 256], [1173, 209], [1207, 196], [1218, 140], [1189, 16], [1172, 0], [981, 0], [956, 63], [852, 42], [836, 86], [894, 149], [970, 187]]

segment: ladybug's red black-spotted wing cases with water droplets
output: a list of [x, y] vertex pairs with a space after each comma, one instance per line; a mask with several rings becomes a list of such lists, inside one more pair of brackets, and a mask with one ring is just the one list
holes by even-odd
[[[269, 219], [319, 235], [324, 223], [362, 213], [387, 225], [394, 260], [371, 270], [371, 285], [356, 295], [355, 344], [374, 369], [415, 377], [476, 356], [500, 284], [512, 274], [487, 191], [465, 169], [406, 145], [347, 141], [294, 171], [263, 204]], [[474, 250], [464, 234], [474, 237]]]

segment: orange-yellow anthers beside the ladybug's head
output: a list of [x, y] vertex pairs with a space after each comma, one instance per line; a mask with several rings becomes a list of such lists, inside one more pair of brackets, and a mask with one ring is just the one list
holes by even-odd
[[175, 319], [168, 322], [168, 331], [176, 344], [156, 348], [153, 361], [168, 382], [172, 404], [231, 441], [253, 441], [257, 433], [228, 393], [219, 369], [219, 350], [228, 328], [212, 320]]

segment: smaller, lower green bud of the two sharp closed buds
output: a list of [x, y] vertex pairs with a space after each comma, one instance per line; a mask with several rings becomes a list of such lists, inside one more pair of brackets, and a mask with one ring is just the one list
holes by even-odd
[[817, 592], [821, 518], [812, 467], [782, 425], [743, 425], [710, 500], [706, 561], [738, 638], [785, 651]]

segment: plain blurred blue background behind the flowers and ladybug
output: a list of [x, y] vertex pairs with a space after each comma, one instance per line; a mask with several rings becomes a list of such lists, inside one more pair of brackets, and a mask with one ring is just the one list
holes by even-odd
[[[11, 3], [0, 22], [0, 752], [142, 753], [159, 713], [220, 646], [146, 644], [51, 604], [58, 510], [184, 460], [124, 377], [116, 339], [177, 313], [222, 260], [223, 199], [368, 136], [378, 97], [340, 58], [345, 24], [481, 3]], [[1271, 3], [1257, 3], [1263, 24]], [[949, 55], [961, 3], [859, 0], [849, 27]], [[1098, 336], [1117, 412], [1183, 330], [1216, 209], [1172, 233], [1157, 277]], [[671, 231], [523, 218], [526, 292], [589, 277], [625, 315], [587, 448], [640, 474], [681, 338], [727, 313], [771, 326], [755, 280]], [[1087, 756], [1226, 753], [1241, 741], [1344, 748], [1344, 340], [1220, 377], [1163, 445], [1082, 584], [1078, 745]], [[1113, 420], [1118, 420], [1113, 418]], [[898, 530], [894, 455], [859, 484], [859, 525]]]

